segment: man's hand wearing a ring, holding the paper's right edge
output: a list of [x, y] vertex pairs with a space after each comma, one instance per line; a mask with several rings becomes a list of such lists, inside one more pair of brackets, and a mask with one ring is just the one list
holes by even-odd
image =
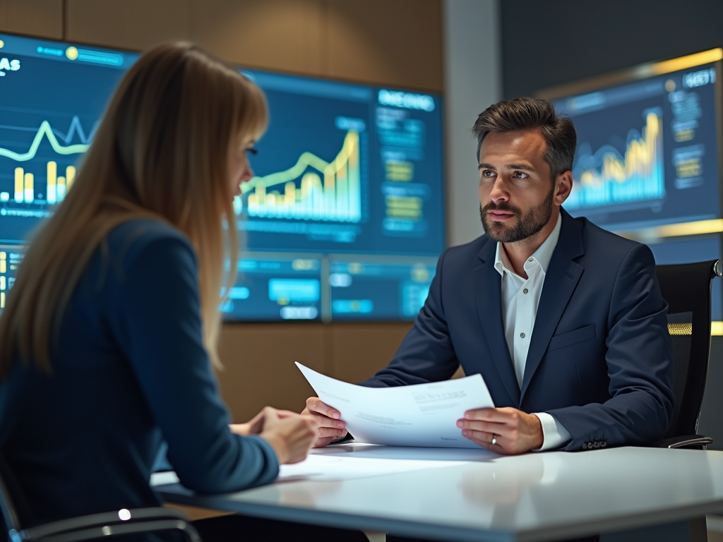
[[516, 408], [467, 410], [457, 426], [463, 436], [498, 454], [523, 454], [542, 447], [544, 442], [539, 418]]

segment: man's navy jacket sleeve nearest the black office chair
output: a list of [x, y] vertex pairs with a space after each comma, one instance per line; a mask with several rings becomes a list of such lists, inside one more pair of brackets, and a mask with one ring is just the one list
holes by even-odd
[[548, 410], [570, 432], [565, 449], [647, 444], [667, 432], [673, 413], [672, 342], [667, 303], [650, 249], [633, 246], [620, 265], [608, 314], [607, 374], [611, 398]]

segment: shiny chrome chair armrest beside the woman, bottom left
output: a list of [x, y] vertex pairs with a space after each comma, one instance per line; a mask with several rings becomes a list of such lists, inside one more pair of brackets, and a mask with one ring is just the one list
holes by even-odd
[[27, 542], [75, 542], [155, 530], [180, 530], [189, 542], [201, 541], [184, 512], [163, 507], [122, 509], [72, 517], [22, 530], [20, 538]]

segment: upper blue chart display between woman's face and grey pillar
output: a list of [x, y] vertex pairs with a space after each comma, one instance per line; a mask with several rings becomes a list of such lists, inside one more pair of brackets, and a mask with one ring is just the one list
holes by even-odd
[[270, 109], [236, 200], [247, 249], [440, 254], [438, 96], [242, 71]]

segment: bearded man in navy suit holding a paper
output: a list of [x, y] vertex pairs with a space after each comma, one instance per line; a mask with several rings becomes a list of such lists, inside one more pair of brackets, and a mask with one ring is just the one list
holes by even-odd
[[[672, 418], [667, 304], [650, 249], [561, 208], [576, 132], [547, 100], [502, 100], [474, 124], [484, 236], [445, 251], [414, 327], [370, 387], [437, 382], [461, 364], [497, 408], [463, 436], [502, 454], [661, 439]], [[346, 434], [317, 397], [317, 446]]]

